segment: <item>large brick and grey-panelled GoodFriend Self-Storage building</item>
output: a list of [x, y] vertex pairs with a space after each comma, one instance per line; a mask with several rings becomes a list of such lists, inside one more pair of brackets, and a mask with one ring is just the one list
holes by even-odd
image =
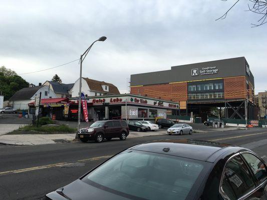
[[[178, 101], [181, 112], [206, 118], [210, 107], [227, 118], [254, 118], [254, 77], [244, 57], [172, 66], [131, 75], [131, 94]], [[245, 111], [247, 110], [247, 111]]]

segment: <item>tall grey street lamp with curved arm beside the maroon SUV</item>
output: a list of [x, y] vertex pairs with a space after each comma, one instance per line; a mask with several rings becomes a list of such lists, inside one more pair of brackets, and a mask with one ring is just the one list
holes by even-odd
[[97, 41], [105, 41], [107, 39], [106, 36], [102, 36], [99, 39], [95, 40], [87, 49], [86, 51], [81, 55], [80, 57], [80, 85], [79, 85], [79, 108], [78, 108], [78, 132], [80, 131], [80, 124], [81, 124], [81, 94], [82, 94], [82, 64], [83, 60], [86, 57], [87, 53], [93, 46], [93, 44]]

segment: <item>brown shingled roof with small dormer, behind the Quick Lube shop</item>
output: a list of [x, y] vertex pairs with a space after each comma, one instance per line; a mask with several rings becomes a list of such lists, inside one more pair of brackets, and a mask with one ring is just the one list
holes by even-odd
[[[108, 94], [120, 94], [119, 89], [114, 84], [104, 82], [104, 81], [93, 80], [90, 78], [84, 78], [84, 77], [83, 77], [83, 79], [86, 80], [86, 82], [87, 82], [87, 84], [91, 90], [99, 91], [99, 92], [103, 92], [103, 93], [108, 93]], [[105, 91], [102, 88], [102, 85], [108, 85], [109, 91]]]

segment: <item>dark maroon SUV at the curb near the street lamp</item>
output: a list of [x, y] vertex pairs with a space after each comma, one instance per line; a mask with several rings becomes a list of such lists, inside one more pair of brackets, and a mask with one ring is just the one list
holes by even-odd
[[104, 138], [111, 140], [114, 137], [125, 140], [129, 135], [129, 127], [124, 120], [96, 121], [87, 128], [81, 128], [78, 135], [84, 142], [88, 140], [102, 142]]

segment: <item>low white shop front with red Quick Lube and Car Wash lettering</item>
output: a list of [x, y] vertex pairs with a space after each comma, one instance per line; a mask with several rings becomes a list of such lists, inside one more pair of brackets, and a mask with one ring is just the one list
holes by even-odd
[[[70, 112], [78, 105], [78, 98], [70, 98]], [[166, 118], [177, 112], [179, 103], [134, 94], [87, 97], [89, 120]]]

